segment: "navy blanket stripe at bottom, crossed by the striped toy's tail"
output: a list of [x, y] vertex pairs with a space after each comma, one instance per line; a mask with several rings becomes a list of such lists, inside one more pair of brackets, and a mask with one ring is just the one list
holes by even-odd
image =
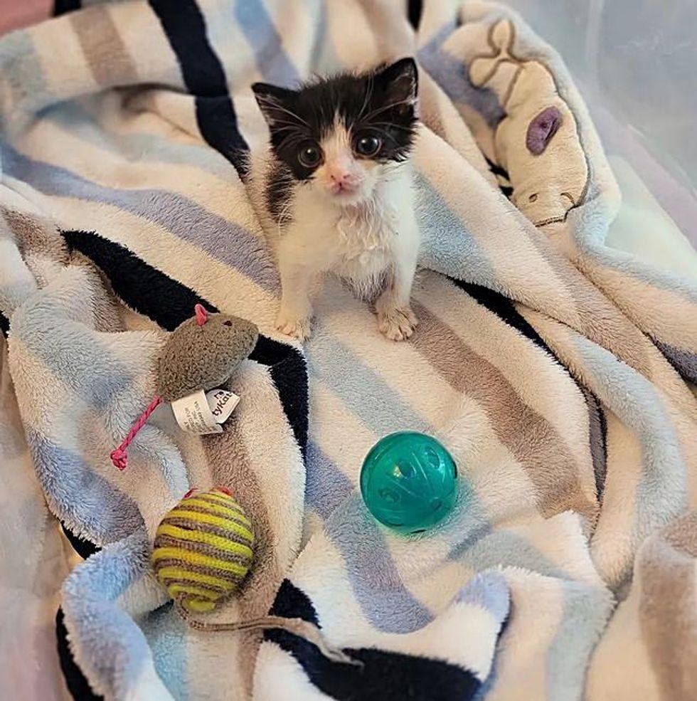
[[[288, 580], [280, 586], [271, 613], [319, 626], [312, 601]], [[315, 645], [287, 631], [266, 631], [265, 638], [291, 654], [307, 678], [337, 701], [470, 701], [481, 686], [469, 670], [420, 655], [348, 648], [344, 652], [362, 663], [351, 665], [327, 659]]]

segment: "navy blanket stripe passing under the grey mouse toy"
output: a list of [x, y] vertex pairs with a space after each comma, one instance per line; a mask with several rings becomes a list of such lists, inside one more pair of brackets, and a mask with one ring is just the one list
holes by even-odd
[[[80, 251], [109, 278], [112, 290], [131, 309], [174, 331], [201, 304], [211, 312], [215, 305], [178, 280], [146, 263], [114, 241], [90, 231], [62, 231], [70, 251]], [[250, 359], [266, 365], [295, 440], [304, 457], [307, 449], [308, 385], [305, 359], [294, 347], [262, 336]]]

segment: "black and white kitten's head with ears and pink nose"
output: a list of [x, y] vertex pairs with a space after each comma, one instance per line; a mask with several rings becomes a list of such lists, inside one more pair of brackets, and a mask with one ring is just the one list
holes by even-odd
[[300, 90], [255, 83], [273, 151], [293, 177], [339, 206], [370, 199], [408, 158], [416, 127], [416, 64], [339, 75]]

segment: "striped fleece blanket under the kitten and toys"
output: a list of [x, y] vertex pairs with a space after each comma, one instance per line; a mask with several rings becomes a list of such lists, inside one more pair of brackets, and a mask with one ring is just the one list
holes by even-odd
[[[0, 40], [3, 562], [25, 585], [38, 573], [0, 596], [60, 604], [36, 630], [3, 606], [2, 656], [22, 653], [4, 680], [32, 670], [12, 697], [60, 697], [42, 666], [58, 634], [80, 698], [697, 698], [697, 285], [604, 245], [617, 186], [557, 53], [475, 0], [85, 5]], [[421, 325], [388, 342], [329, 280], [301, 348], [274, 331], [245, 190], [266, 138], [249, 85], [408, 54]], [[119, 472], [110, 450], [196, 302], [260, 328], [229, 382], [240, 404], [203, 437], [159, 407]], [[401, 429], [459, 464], [454, 512], [413, 538], [356, 489]], [[85, 557], [48, 568], [60, 596], [32, 469]], [[301, 617], [361, 665], [177, 616], [154, 530], [212, 485], [258, 539], [220, 620]]]

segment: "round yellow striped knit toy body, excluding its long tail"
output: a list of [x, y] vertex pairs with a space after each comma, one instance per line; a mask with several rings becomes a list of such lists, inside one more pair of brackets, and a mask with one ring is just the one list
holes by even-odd
[[254, 530], [225, 487], [193, 492], [162, 520], [151, 562], [157, 579], [178, 607], [213, 611], [247, 575]]

